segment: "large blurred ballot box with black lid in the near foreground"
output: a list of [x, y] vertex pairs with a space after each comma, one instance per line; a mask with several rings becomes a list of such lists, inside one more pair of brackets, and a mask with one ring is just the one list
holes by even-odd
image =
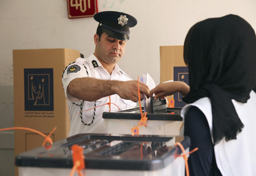
[[[189, 151], [187, 136], [79, 134], [38, 147], [15, 158], [20, 176], [69, 176], [73, 144], [83, 147], [86, 176], [184, 176], [180, 142]], [[77, 174], [75, 174], [77, 175]]]

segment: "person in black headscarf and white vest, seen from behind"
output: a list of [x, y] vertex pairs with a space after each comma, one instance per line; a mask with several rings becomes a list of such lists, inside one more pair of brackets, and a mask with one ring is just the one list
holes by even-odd
[[199, 148], [189, 156], [190, 176], [256, 175], [254, 30], [231, 14], [198, 22], [186, 36], [184, 61], [190, 91], [170, 82], [150, 95], [156, 99], [178, 91], [188, 103], [181, 111], [184, 135], [191, 138], [191, 150]]

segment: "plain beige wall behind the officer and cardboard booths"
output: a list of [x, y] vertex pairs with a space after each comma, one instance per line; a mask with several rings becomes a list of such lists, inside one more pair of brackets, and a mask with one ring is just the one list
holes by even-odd
[[[159, 46], [183, 45], [196, 22], [238, 14], [256, 29], [255, 0], [98, 0], [98, 9], [123, 11], [137, 18], [119, 66], [133, 79], [148, 72], [156, 83], [160, 81]], [[67, 0], [0, 0], [0, 128], [13, 126], [12, 50], [70, 48], [87, 57], [94, 52], [97, 25], [92, 17], [68, 19]], [[12, 137], [9, 142], [12, 151]], [[6, 151], [5, 146], [1, 148]], [[0, 166], [6, 161], [1, 156]], [[13, 160], [9, 162], [12, 170]]]

